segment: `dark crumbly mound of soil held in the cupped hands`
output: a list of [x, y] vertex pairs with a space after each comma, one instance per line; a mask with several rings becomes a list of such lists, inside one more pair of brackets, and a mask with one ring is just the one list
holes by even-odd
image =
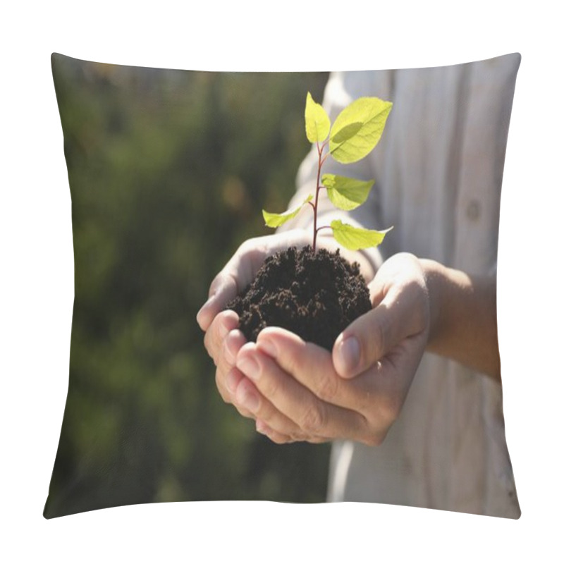
[[228, 303], [239, 329], [256, 341], [266, 326], [288, 329], [331, 350], [339, 333], [371, 309], [358, 263], [336, 252], [290, 247], [268, 257], [255, 280]]

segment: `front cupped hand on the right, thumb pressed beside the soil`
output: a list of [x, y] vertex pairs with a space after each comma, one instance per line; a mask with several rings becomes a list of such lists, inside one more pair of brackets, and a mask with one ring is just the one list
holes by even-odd
[[332, 354], [279, 328], [264, 329], [256, 344], [226, 341], [235, 362], [229, 397], [257, 431], [276, 443], [384, 441], [427, 344], [431, 307], [412, 255], [388, 259], [369, 289], [373, 309], [338, 336]]

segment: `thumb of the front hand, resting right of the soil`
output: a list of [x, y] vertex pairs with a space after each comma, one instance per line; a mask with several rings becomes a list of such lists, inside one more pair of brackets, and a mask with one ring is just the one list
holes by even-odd
[[418, 315], [424, 307], [422, 296], [415, 286], [389, 290], [374, 309], [355, 319], [336, 338], [332, 356], [340, 376], [353, 378], [362, 374], [403, 339], [424, 329]]

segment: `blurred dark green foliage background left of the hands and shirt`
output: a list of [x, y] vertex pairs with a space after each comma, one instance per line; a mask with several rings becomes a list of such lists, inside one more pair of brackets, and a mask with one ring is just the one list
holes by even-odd
[[[46, 517], [154, 501], [324, 501], [328, 445], [277, 446], [216, 391], [195, 316], [286, 209], [326, 73], [203, 73], [54, 54], [71, 185], [68, 399]], [[61, 190], [65, 187], [61, 186]]]

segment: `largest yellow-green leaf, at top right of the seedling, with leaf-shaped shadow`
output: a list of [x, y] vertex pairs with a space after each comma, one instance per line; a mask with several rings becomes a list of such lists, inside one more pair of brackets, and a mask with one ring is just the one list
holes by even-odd
[[333, 159], [343, 164], [364, 159], [379, 142], [391, 108], [379, 98], [359, 98], [343, 109], [329, 137]]

